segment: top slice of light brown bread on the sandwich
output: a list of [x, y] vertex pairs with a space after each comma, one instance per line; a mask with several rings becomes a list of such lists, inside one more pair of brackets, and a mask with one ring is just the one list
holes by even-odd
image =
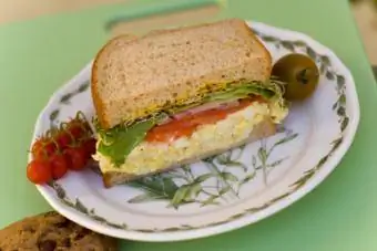
[[190, 102], [204, 88], [264, 82], [271, 70], [265, 46], [244, 21], [232, 19], [111, 40], [94, 60], [91, 90], [108, 129]]

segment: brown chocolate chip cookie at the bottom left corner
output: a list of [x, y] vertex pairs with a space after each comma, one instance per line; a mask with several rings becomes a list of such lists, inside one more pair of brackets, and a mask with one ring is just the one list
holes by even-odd
[[54, 211], [0, 230], [0, 251], [116, 251], [116, 239], [88, 230]]

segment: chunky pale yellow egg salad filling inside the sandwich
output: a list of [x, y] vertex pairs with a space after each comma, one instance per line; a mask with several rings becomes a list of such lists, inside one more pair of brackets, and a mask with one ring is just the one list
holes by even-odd
[[[287, 115], [287, 109], [276, 102], [259, 103], [230, 114], [225, 119], [215, 124], [200, 126], [190, 137], [180, 137], [169, 143], [142, 142], [135, 146], [121, 165], [101, 151], [94, 156], [100, 164], [101, 171], [123, 171], [133, 175], [143, 175], [166, 166], [175, 165], [182, 160], [194, 158], [203, 151], [212, 151], [245, 140], [254, 127], [264, 118], [271, 117], [279, 123]], [[98, 147], [101, 138], [98, 142]]]

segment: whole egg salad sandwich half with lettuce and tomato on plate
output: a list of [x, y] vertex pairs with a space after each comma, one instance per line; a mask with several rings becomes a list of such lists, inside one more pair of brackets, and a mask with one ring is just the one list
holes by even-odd
[[271, 71], [269, 52], [237, 19], [109, 41], [91, 79], [104, 186], [274, 135], [288, 111]]

